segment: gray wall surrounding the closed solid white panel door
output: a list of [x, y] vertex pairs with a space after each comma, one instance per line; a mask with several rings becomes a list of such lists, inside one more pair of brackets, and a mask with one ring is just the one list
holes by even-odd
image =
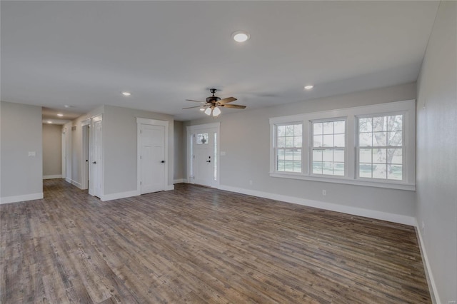
[[136, 118], [169, 121], [168, 185], [173, 185], [174, 166], [174, 123], [173, 116], [104, 106], [103, 155], [104, 195], [136, 191]]

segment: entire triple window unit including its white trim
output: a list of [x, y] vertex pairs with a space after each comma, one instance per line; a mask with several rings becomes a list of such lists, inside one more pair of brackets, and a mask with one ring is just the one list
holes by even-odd
[[415, 190], [416, 101], [270, 118], [270, 176]]

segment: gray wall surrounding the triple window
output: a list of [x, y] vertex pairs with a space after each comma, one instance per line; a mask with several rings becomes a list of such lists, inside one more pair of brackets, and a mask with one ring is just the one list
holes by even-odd
[[[187, 121], [185, 125], [221, 121], [221, 151], [226, 152], [226, 156], [220, 158], [220, 183], [223, 187], [291, 196], [331, 203], [343, 208], [362, 208], [368, 212], [381, 211], [412, 218], [416, 212], [413, 191], [270, 177], [268, 174], [270, 166], [268, 118], [415, 98], [416, 83], [408, 83], [312, 101], [288, 103], [283, 106], [246, 109], [237, 113], [230, 113], [229, 109], [223, 109], [219, 118]], [[249, 181], [253, 181], [253, 184], [250, 185]], [[326, 196], [322, 196], [323, 189], [326, 190]]]

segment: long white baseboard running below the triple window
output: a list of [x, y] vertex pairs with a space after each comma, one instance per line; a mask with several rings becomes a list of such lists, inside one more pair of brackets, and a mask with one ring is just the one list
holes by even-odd
[[326, 203], [322, 201], [313, 201], [306, 198], [296, 198], [294, 196], [283, 196], [281, 194], [267, 193], [263, 191], [255, 191], [250, 189], [236, 188], [231, 186], [219, 186], [219, 189], [236, 193], [247, 194], [249, 196], [259, 196], [261, 198], [269, 198], [276, 201], [284, 201], [286, 203], [296, 203], [298, 205], [321, 208], [328, 211], [336, 211], [341, 213], [352, 214], [353, 216], [364, 216], [366, 218], [376, 218], [381, 221], [389, 221], [393, 223], [401, 223], [409, 226], [416, 226], [416, 218], [412, 216], [401, 216], [394, 213], [386, 213], [383, 211], [373, 211], [363, 208], [343, 206], [335, 203]]

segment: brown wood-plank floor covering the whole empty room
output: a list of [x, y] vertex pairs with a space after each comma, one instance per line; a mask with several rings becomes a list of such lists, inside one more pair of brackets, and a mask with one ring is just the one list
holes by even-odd
[[175, 187], [1, 205], [1, 303], [431, 303], [411, 226]]

